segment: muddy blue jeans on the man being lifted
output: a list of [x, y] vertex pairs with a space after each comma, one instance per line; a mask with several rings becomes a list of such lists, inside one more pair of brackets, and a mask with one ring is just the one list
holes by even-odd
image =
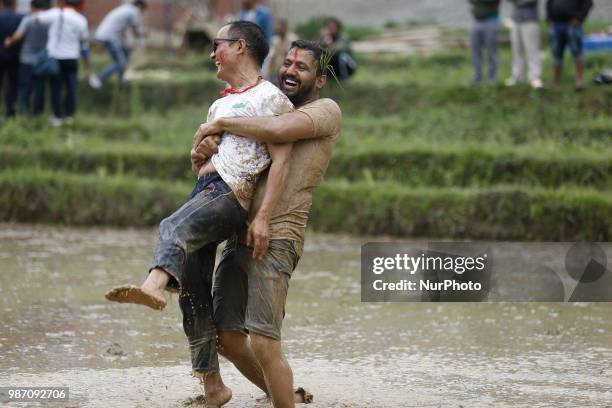
[[217, 245], [233, 236], [247, 212], [218, 173], [201, 177], [191, 198], [159, 226], [151, 269], [172, 278], [178, 289], [183, 329], [189, 341], [194, 375], [219, 371], [216, 331], [212, 318], [212, 276]]

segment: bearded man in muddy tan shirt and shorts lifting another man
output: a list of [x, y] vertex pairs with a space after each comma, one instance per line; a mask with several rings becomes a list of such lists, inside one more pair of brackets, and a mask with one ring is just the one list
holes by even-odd
[[[213, 293], [221, 354], [266, 392], [276, 408], [308, 402], [305, 392], [293, 392], [293, 374], [281, 348], [281, 325], [291, 273], [302, 254], [312, 194], [321, 183], [340, 133], [338, 105], [331, 99], [319, 99], [326, 82], [322, 55], [319, 45], [296, 41], [279, 70], [281, 90], [296, 106], [295, 112], [221, 118], [203, 125], [196, 134], [196, 142], [223, 132], [268, 143], [294, 142], [287, 186], [278, 205], [272, 212], [262, 210], [263, 192], [274, 182], [269, 176], [267, 180], [262, 177], [251, 206], [251, 214], [257, 215], [251, 217], [249, 239], [237, 236], [228, 242]], [[214, 152], [215, 138], [206, 137], [192, 151], [195, 167]], [[253, 254], [245, 241], [254, 243]], [[207, 383], [217, 381], [218, 375], [207, 378]]]

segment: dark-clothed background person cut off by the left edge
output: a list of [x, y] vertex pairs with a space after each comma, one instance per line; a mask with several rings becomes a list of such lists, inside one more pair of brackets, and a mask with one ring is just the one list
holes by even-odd
[[[13, 35], [23, 16], [15, 13], [15, 0], [2, 0], [0, 11], [0, 89], [6, 85], [5, 116], [15, 115], [19, 81], [19, 48], [6, 48], [5, 40]], [[5, 77], [7, 81], [5, 81]]]

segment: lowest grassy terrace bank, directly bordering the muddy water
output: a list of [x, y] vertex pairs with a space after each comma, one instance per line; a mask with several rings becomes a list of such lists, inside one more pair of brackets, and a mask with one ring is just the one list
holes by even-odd
[[[156, 224], [190, 185], [138, 177], [36, 169], [0, 172], [4, 221], [74, 225]], [[315, 194], [309, 224], [321, 231], [444, 238], [591, 240], [611, 237], [612, 194], [522, 186], [410, 188], [330, 179]]]

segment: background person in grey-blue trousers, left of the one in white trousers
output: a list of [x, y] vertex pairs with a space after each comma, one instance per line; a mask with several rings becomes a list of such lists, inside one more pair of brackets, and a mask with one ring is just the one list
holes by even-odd
[[482, 81], [482, 49], [487, 50], [489, 59], [490, 82], [497, 81], [499, 57], [497, 52], [497, 36], [499, 35], [499, 2], [500, 0], [469, 0], [472, 6], [474, 21], [470, 30], [470, 46], [472, 48], [473, 82]]

